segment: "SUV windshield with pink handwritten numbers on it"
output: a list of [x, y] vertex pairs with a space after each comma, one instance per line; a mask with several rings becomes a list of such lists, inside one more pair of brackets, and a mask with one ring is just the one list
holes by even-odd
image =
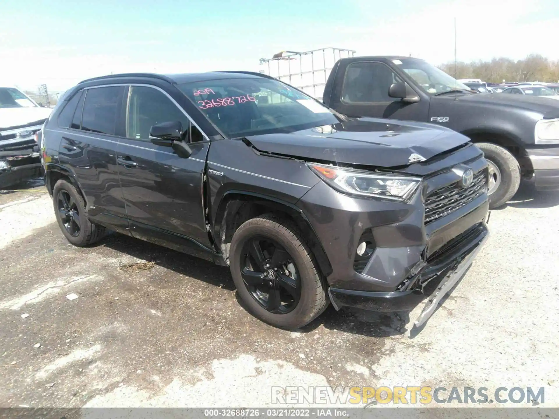
[[323, 104], [277, 80], [228, 78], [178, 88], [228, 137], [293, 132], [342, 121]]

